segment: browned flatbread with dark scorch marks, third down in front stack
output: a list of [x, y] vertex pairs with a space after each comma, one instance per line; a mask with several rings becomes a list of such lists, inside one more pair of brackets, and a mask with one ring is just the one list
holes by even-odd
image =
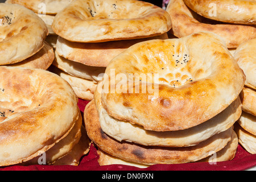
[[101, 129], [94, 101], [86, 105], [84, 121], [88, 137], [102, 151], [123, 160], [147, 165], [188, 163], [206, 158], [224, 148], [233, 132], [230, 128], [192, 147], [148, 147], [130, 142], [118, 142], [106, 135]]

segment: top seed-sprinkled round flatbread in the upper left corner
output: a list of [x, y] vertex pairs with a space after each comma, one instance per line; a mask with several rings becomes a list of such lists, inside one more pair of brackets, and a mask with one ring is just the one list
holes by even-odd
[[44, 46], [46, 24], [21, 5], [0, 3], [0, 65], [18, 63]]

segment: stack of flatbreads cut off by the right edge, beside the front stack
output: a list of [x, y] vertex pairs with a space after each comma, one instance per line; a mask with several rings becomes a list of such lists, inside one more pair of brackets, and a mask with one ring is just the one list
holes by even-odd
[[251, 154], [256, 154], [256, 39], [241, 44], [234, 58], [246, 76], [245, 86], [240, 94], [242, 115], [236, 125], [240, 144]]

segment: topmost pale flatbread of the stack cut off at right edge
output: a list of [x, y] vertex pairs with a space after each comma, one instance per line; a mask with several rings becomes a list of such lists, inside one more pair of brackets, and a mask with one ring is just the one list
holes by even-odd
[[256, 89], [256, 39], [248, 40], [237, 47], [234, 58], [245, 73], [245, 85]]

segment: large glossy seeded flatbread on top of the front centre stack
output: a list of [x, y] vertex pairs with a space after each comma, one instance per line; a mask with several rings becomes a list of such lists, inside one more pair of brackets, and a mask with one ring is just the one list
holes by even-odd
[[241, 68], [216, 34], [149, 40], [110, 61], [102, 106], [110, 116], [146, 130], [184, 130], [226, 109], [244, 82]]

